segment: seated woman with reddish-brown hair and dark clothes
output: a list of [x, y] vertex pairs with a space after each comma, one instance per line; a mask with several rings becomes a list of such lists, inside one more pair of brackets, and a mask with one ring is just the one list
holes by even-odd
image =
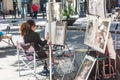
[[[34, 48], [38, 55], [37, 58], [46, 58], [47, 54], [42, 49], [47, 44], [47, 40], [49, 39], [49, 37], [47, 36], [45, 40], [42, 41], [38, 33], [35, 32], [35, 29], [35, 22], [33, 20], [28, 20], [20, 26], [20, 34], [23, 36], [23, 40], [25, 43], [34, 43]], [[44, 70], [42, 72], [45, 74], [49, 73], [46, 61], [44, 65]]]

